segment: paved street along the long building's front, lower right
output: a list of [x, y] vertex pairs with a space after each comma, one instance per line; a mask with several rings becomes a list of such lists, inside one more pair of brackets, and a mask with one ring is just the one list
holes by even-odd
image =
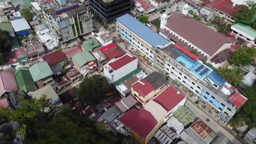
[[[234, 144], [242, 144], [240, 141], [236, 139], [233, 135], [229, 133], [229, 131], [225, 130], [222, 126], [220, 126], [216, 121], [214, 121], [211, 117], [207, 116], [205, 112], [200, 110], [196, 105], [194, 105], [191, 101], [187, 100], [185, 106], [188, 106], [191, 111], [195, 113], [197, 117], [199, 117], [203, 122], [205, 122], [213, 131], [216, 133], [222, 133], [231, 143]], [[210, 119], [210, 122], [206, 122], [206, 118]]]

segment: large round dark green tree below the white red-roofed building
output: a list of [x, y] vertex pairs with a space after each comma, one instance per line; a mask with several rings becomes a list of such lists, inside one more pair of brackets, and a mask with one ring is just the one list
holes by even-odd
[[77, 98], [86, 104], [97, 104], [108, 92], [108, 81], [101, 75], [86, 77], [76, 89]]

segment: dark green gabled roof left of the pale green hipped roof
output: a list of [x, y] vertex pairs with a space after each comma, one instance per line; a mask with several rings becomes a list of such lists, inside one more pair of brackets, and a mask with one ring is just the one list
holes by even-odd
[[37, 90], [37, 86], [33, 81], [30, 71], [26, 68], [19, 68], [14, 71], [15, 79], [17, 81], [18, 87], [25, 92], [34, 92]]

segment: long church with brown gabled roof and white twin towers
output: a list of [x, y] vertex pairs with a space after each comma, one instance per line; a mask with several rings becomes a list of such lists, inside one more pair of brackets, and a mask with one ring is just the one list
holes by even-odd
[[200, 59], [216, 68], [227, 62], [226, 59], [222, 63], [217, 63], [212, 58], [219, 52], [229, 49], [234, 41], [182, 13], [173, 13], [170, 16], [163, 14], [160, 19], [159, 34], [166, 39], [183, 45], [189, 51], [197, 51]]

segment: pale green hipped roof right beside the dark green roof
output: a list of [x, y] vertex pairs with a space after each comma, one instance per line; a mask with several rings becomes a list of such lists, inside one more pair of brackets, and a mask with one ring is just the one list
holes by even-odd
[[38, 62], [32, 65], [30, 68], [28, 68], [28, 70], [30, 70], [30, 74], [34, 82], [42, 80], [50, 75], [53, 75], [53, 71], [51, 70], [47, 62]]

